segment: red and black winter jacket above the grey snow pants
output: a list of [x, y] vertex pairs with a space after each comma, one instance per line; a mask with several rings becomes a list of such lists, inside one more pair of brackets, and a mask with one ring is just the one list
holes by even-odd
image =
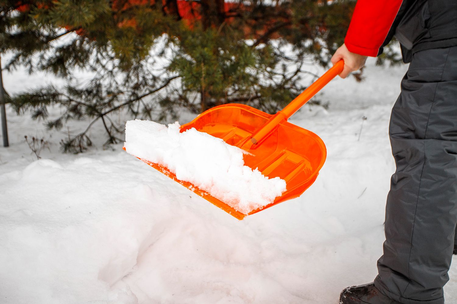
[[414, 52], [457, 46], [456, 19], [456, 0], [358, 0], [345, 45], [374, 57], [395, 35], [410, 62]]

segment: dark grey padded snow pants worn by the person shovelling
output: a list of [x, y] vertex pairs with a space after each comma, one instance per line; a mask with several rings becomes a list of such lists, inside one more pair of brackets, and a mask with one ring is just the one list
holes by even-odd
[[457, 46], [414, 54], [393, 106], [397, 170], [375, 286], [404, 304], [443, 304], [457, 224]]

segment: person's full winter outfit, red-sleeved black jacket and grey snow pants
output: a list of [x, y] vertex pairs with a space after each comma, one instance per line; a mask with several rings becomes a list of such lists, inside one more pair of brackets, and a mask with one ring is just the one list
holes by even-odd
[[443, 304], [457, 245], [457, 1], [358, 0], [345, 45], [377, 56], [394, 34], [411, 63], [390, 120], [397, 169], [374, 281], [388, 300], [373, 303]]

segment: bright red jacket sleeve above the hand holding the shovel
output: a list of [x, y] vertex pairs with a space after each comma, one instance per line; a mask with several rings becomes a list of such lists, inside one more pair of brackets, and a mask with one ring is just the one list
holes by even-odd
[[350, 52], [376, 57], [393, 36], [403, 0], [358, 0], [345, 37]]

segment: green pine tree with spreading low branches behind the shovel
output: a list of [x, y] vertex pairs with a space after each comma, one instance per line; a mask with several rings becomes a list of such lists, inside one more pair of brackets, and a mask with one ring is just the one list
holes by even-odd
[[[112, 114], [175, 118], [223, 103], [246, 103], [274, 113], [303, 91], [305, 60], [321, 66], [343, 42], [351, 0], [0, 0], [0, 54], [5, 69], [26, 66], [68, 80], [17, 94], [18, 113], [32, 110], [48, 128], [92, 119], [62, 143], [82, 152], [87, 131], [101, 121], [121, 141]], [[389, 53], [394, 58], [394, 53]], [[167, 58], [163, 60], [162, 58]], [[94, 76], [78, 85], [80, 69]], [[65, 109], [57, 119], [48, 108]], [[158, 116], [157, 116], [158, 114]]]

